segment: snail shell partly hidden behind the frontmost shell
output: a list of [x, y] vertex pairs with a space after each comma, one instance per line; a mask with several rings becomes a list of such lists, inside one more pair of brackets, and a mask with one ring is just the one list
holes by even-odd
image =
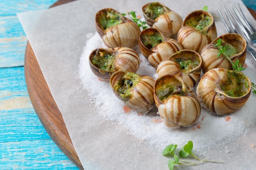
[[166, 74], [180, 76], [192, 88], [199, 82], [201, 64], [202, 58], [197, 52], [193, 50], [181, 50], [160, 62], [157, 67], [157, 75], [159, 77]]

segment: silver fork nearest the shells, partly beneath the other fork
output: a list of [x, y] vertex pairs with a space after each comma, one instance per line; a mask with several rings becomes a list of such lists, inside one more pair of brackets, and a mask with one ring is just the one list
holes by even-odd
[[[225, 7], [225, 5], [223, 5], [223, 8], [224, 8], [225, 14], [226, 14], [226, 16], [227, 16], [227, 20], [228, 20], [228, 22], [229, 22], [229, 25], [231, 26], [230, 28], [229, 28], [229, 26], [228, 26], [226, 20], [224, 19], [222, 13], [220, 12], [220, 9], [217, 7], [218, 13], [219, 13], [219, 15], [220, 15], [220, 18], [221, 18], [223, 24], [225, 25], [225, 28], [226, 28], [227, 32], [228, 32], [228, 33], [238, 33], [236, 27], [234, 26], [234, 24], [233, 24], [232, 21], [231, 21], [231, 18], [230, 18], [229, 15], [228, 15], [227, 8]], [[228, 11], [229, 11], [229, 13], [231, 14], [231, 16], [232, 16], [233, 18], [235, 18], [234, 14], [231, 12], [231, 10], [230, 10], [229, 8], [228, 8]], [[236, 19], [235, 19], [235, 20], [236, 20]], [[238, 34], [239, 34], [239, 33], [238, 33]], [[247, 52], [249, 52], [249, 53], [254, 57], [254, 59], [256, 60], [256, 51], [255, 51], [254, 49], [252, 49], [252, 47], [248, 46], [248, 44], [250, 44], [250, 43], [248, 43], [248, 38], [245, 38], [245, 40], [246, 40], [246, 43], [247, 43], [247, 48], [246, 48], [246, 49], [247, 49]]]

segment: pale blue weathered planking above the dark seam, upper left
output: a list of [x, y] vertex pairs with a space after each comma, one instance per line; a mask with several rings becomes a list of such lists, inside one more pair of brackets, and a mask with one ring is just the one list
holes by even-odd
[[0, 0], [0, 68], [23, 66], [27, 38], [16, 16], [47, 9], [56, 0]]

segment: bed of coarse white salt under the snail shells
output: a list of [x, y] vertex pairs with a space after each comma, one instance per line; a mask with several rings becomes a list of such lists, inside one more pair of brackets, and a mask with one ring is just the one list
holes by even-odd
[[[202, 107], [198, 122], [185, 128], [168, 128], [161, 121], [154, 107], [146, 115], [131, 111], [125, 113], [124, 102], [112, 92], [109, 82], [100, 81], [90, 70], [89, 55], [97, 48], [107, 48], [98, 33], [90, 33], [80, 58], [79, 77], [83, 87], [88, 91], [88, 98], [97, 114], [112, 124], [124, 126], [128, 134], [134, 135], [155, 149], [163, 150], [169, 144], [183, 146], [189, 140], [194, 143], [194, 150], [203, 151], [222, 147], [231, 141], [246, 135], [256, 124], [254, 104], [256, 95], [252, 94], [243, 108], [227, 116], [217, 116]], [[137, 73], [157, 78], [156, 70], [140, 53], [138, 46], [134, 49], [140, 56], [141, 65]], [[251, 56], [250, 56], [251, 57]], [[251, 61], [246, 59], [247, 69], [243, 71], [252, 82], [256, 82], [256, 71]], [[194, 89], [195, 91], [195, 89]]]

